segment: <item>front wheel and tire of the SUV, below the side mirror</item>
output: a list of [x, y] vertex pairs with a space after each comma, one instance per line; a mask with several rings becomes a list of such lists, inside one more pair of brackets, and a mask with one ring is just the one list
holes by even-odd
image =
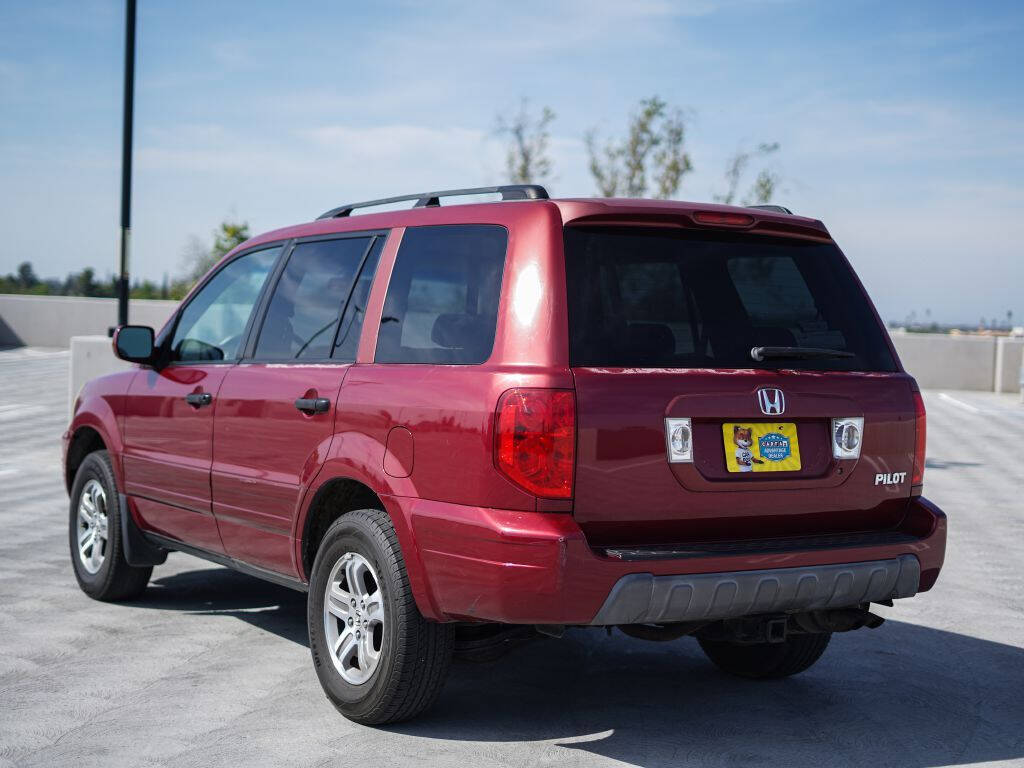
[[105, 602], [138, 597], [153, 573], [153, 566], [125, 560], [119, 504], [111, 457], [105, 451], [89, 454], [72, 484], [68, 543], [78, 586]]

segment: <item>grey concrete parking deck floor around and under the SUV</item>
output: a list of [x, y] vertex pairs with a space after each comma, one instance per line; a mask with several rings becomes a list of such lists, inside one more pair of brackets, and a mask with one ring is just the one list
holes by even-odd
[[1024, 763], [1024, 406], [928, 392], [930, 593], [837, 635], [797, 678], [696, 643], [570, 631], [458, 664], [438, 706], [373, 729], [321, 691], [304, 596], [187, 555], [145, 595], [83, 595], [59, 436], [67, 352], [0, 351], [0, 766], [959, 766]]

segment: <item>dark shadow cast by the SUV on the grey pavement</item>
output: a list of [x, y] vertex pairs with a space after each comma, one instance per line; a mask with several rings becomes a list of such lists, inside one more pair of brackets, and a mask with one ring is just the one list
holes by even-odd
[[[226, 568], [157, 579], [134, 605], [232, 616], [306, 643], [304, 595]], [[1022, 692], [1024, 649], [895, 621], [835, 635], [810, 671], [765, 682], [718, 672], [690, 638], [570, 630], [498, 662], [455, 664], [433, 710], [387, 730], [551, 741], [553, 760], [573, 750], [646, 768], [924, 768], [1024, 758]]]

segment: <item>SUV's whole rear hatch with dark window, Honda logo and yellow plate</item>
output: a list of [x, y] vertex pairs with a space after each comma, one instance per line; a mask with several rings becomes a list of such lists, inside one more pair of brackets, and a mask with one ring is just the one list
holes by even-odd
[[[570, 225], [565, 263], [573, 509], [593, 546], [899, 524], [913, 382], [826, 237]], [[859, 456], [835, 455], [834, 420], [854, 424]], [[677, 425], [688, 461], [670, 461]]]

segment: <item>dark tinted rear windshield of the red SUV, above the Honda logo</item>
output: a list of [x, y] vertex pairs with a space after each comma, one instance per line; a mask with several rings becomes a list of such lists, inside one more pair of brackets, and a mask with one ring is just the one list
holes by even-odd
[[[567, 227], [574, 367], [895, 371], [884, 331], [830, 243]], [[852, 357], [755, 361], [757, 346]]]

